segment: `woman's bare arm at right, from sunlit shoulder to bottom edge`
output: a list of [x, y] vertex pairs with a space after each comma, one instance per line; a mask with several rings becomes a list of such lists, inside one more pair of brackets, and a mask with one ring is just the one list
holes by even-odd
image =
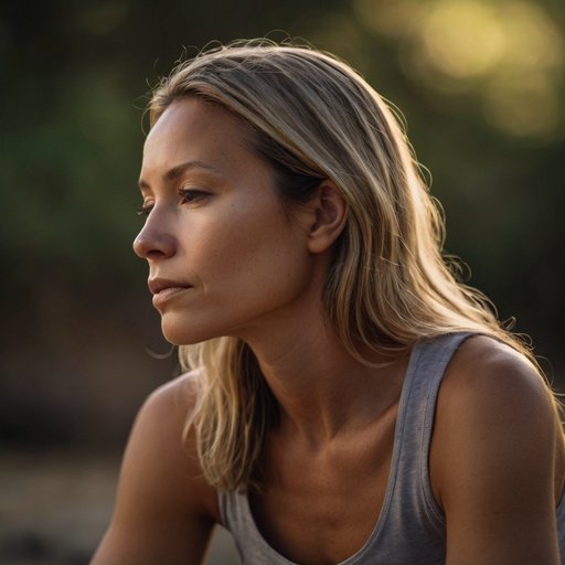
[[447, 563], [559, 564], [563, 436], [534, 367], [487, 338], [463, 343], [438, 398], [430, 452]]

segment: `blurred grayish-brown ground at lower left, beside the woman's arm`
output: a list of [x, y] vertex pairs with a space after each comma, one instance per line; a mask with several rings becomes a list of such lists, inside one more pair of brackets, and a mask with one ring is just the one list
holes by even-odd
[[[108, 524], [119, 460], [119, 455], [1, 449], [0, 565], [87, 565]], [[237, 564], [222, 529], [206, 563]]]

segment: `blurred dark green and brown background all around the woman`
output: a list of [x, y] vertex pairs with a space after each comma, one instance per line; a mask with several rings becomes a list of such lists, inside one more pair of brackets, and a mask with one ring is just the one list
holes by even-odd
[[[147, 394], [177, 374], [146, 266], [147, 93], [213, 40], [305, 38], [403, 113], [446, 250], [565, 390], [562, 0], [0, 4], [0, 564], [81, 565]], [[222, 534], [210, 563], [233, 563]]]

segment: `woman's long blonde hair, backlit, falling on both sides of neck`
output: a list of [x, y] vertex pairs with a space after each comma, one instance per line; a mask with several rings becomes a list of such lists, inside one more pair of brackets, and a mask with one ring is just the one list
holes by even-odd
[[[489, 334], [533, 360], [502, 328], [478, 290], [459, 282], [441, 255], [444, 222], [403, 129], [383, 98], [350, 66], [311, 47], [266, 40], [217, 46], [180, 64], [156, 88], [151, 126], [174, 100], [195, 96], [227, 108], [252, 130], [282, 201], [308, 201], [330, 179], [349, 205], [324, 288], [334, 331], [358, 360], [358, 344], [393, 353], [446, 332]], [[194, 426], [211, 484], [260, 482], [258, 457], [277, 403], [241, 340], [180, 348], [198, 371]]]

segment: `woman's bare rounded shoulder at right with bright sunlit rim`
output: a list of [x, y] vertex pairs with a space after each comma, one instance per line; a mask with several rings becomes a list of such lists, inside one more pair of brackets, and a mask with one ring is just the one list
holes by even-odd
[[482, 430], [487, 444], [543, 438], [556, 450], [563, 445], [557, 405], [544, 377], [524, 355], [483, 335], [467, 339], [454, 354], [439, 391], [436, 426], [439, 436]]

